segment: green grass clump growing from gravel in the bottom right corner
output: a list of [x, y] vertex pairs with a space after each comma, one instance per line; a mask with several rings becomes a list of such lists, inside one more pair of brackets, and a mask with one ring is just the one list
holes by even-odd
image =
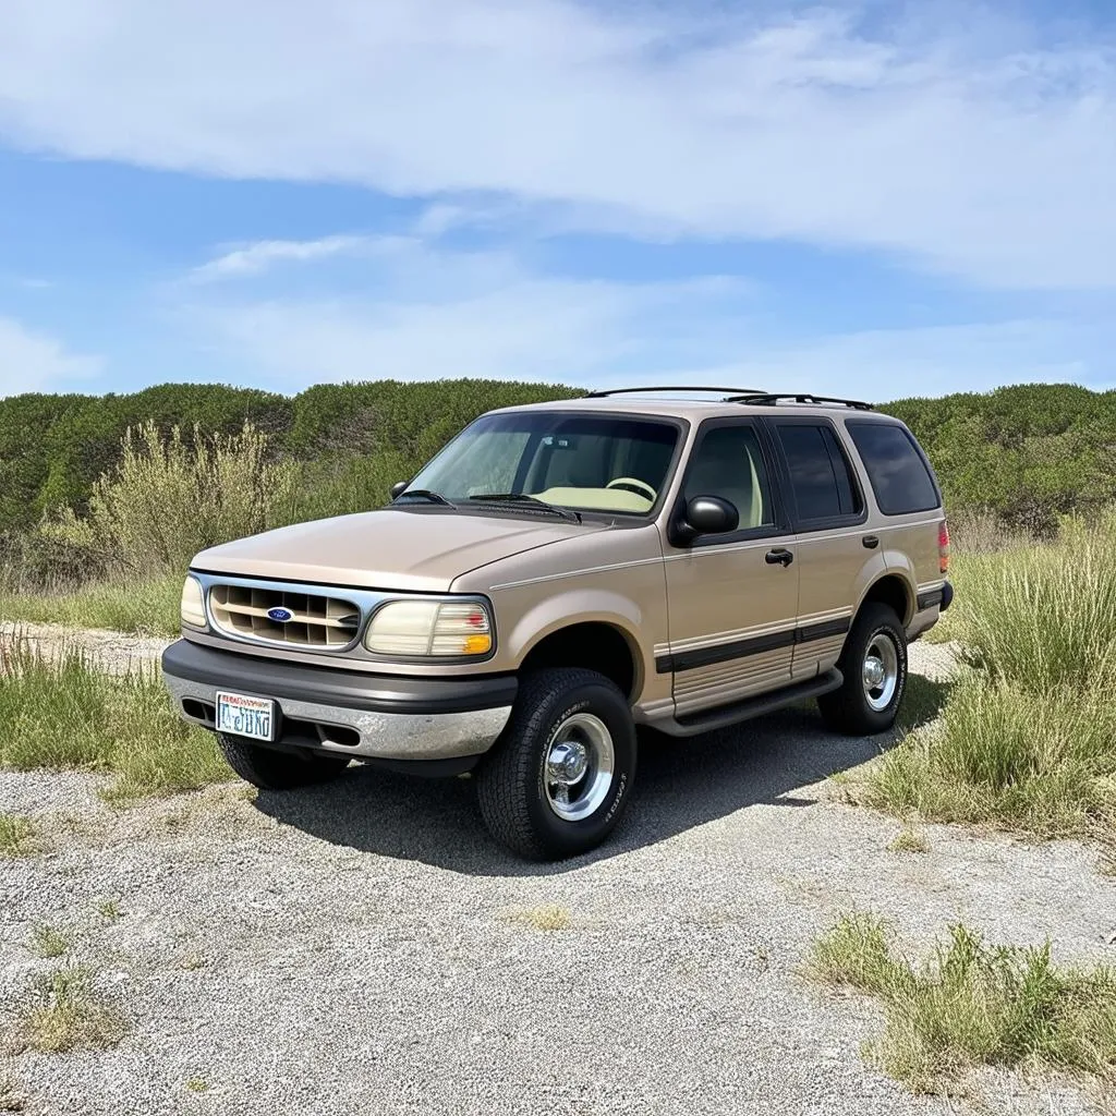
[[881, 1001], [886, 1024], [866, 1054], [916, 1089], [981, 1065], [1116, 1071], [1116, 972], [1059, 968], [1049, 943], [993, 946], [955, 925], [915, 965], [879, 918], [853, 914], [815, 944], [807, 972]]

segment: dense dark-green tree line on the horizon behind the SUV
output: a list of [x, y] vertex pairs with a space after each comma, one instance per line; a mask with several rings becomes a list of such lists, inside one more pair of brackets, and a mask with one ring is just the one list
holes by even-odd
[[[119, 459], [129, 427], [152, 422], [186, 437], [234, 435], [246, 423], [270, 452], [307, 466], [321, 513], [382, 500], [388, 478], [417, 468], [484, 411], [583, 394], [555, 384], [485, 379], [323, 384], [286, 396], [212, 384], [162, 384], [133, 394], [17, 395], [0, 400], [0, 530], [61, 508], [85, 511], [97, 478]], [[925, 448], [950, 509], [985, 508], [1006, 523], [1047, 530], [1059, 514], [1116, 502], [1116, 392], [1028, 384], [987, 394], [881, 405]], [[402, 470], [402, 472], [401, 472]]]

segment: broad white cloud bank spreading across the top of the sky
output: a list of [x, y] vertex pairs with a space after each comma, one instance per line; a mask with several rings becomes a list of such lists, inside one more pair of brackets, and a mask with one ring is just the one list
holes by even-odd
[[8, 0], [0, 135], [448, 204], [491, 193], [626, 233], [867, 248], [994, 286], [1116, 285], [1110, 44], [1038, 45], [972, 7], [963, 32], [893, 16], [886, 35], [847, 9], [764, 11]]

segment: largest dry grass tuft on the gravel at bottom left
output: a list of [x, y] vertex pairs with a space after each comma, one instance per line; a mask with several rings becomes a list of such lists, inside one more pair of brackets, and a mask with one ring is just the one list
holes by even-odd
[[93, 973], [67, 965], [35, 980], [12, 1040], [19, 1050], [68, 1054], [107, 1050], [127, 1032], [127, 1020], [94, 988]]

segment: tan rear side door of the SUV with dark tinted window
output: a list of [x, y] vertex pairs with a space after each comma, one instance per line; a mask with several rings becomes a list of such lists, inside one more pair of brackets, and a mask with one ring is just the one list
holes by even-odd
[[834, 422], [820, 415], [767, 422], [798, 540], [797, 681], [837, 662], [856, 603], [884, 571], [884, 559], [865, 528], [864, 492]]

